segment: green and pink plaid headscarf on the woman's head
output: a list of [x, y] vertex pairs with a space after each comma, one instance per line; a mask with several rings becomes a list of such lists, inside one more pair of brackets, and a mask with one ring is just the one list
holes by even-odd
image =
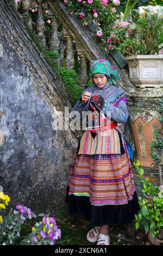
[[107, 59], [91, 60], [90, 69], [92, 75], [95, 73], [101, 73], [108, 76], [108, 82], [110, 84], [112, 84], [112, 80], [114, 80], [115, 78], [117, 80], [121, 79], [118, 71], [115, 69], [114, 66], [110, 65], [110, 62]]

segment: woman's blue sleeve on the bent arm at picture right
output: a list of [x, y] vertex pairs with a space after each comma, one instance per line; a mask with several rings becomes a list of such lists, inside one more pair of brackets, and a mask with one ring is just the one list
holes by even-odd
[[108, 111], [111, 112], [111, 119], [115, 120], [117, 123], [124, 124], [127, 122], [129, 113], [127, 109], [127, 102], [126, 102], [126, 96], [124, 92], [119, 96], [120, 100], [115, 107], [113, 104], [104, 101], [105, 108], [104, 108], [104, 114]]

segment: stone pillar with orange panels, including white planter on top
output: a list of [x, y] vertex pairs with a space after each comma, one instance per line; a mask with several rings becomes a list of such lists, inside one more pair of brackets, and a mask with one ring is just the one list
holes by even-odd
[[162, 54], [137, 55], [125, 59], [129, 64], [130, 81], [135, 84], [135, 92], [131, 94], [135, 104], [129, 112], [137, 158], [141, 166], [153, 168], [149, 143], [155, 139], [156, 128], [161, 128], [158, 108], [163, 87], [163, 57]]

